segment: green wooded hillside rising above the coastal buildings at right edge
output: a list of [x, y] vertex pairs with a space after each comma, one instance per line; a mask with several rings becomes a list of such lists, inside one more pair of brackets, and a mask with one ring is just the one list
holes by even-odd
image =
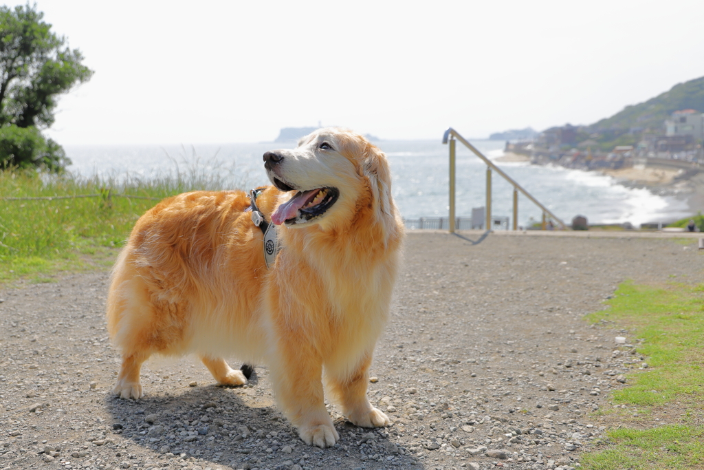
[[696, 109], [704, 112], [704, 77], [678, 83], [670, 91], [589, 126], [591, 130], [660, 130], [673, 111]]

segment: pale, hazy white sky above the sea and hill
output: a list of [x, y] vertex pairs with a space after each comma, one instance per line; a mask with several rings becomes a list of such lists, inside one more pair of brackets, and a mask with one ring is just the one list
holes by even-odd
[[[14, 6], [14, 4], [7, 4]], [[38, 0], [93, 78], [60, 144], [386, 140], [589, 124], [704, 75], [704, 1]], [[704, 110], [701, 110], [704, 111]]]

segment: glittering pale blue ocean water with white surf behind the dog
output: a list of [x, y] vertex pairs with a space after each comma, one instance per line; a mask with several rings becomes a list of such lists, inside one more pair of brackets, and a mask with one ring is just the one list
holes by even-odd
[[[472, 140], [490, 159], [503, 155], [504, 142]], [[394, 199], [405, 218], [448, 215], [448, 146], [440, 140], [381, 141], [377, 145], [391, 164]], [[181, 146], [66, 146], [73, 173], [122, 178], [127, 173], [142, 178], [189, 171], [195, 164], [230, 181], [231, 185], [255, 187], [268, 184], [262, 155], [286, 147], [275, 143], [200, 144]], [[287, 148], [294, 147], [293, 144]], [[197, 163], [196, 163], [197, 162]], [[577, 215], [590, 223], [634, 225], [672, 221], [690, 215], [686, 203], [643, 189], [617, 184], [614, 178], [596, 172], [568, 170], [529, 163], [496, 162], [511, 178], [553, 213], [570, 223]], [[457, 145], [456, 214], [470, 216], [473, 207], [484, 206], [486, 165], [462, 144]], [[512, 216], [513, 188], [494, 172], [492, 214]], [[541, 210], [519, 195], [520, 225], [539, 221]]]

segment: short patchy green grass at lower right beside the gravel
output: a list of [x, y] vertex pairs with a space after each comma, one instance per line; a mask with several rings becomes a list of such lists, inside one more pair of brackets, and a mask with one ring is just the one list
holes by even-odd
[[[629, 374], [629, 385], [613, 392], [611, 401], [637, 407], [641, 424], [655, 415], [667, 417], [651, 421], [648, 429], [612, 429], [607, 450], [582, 454], [584, 468], [704, 468], [704, 285], [624, 283], [607, 304], [610, 309], [587, 320], [608, 319], [634, 331], [629, 337], [648, 364]], [[615, 418], [622, 426], [629, 422]]]

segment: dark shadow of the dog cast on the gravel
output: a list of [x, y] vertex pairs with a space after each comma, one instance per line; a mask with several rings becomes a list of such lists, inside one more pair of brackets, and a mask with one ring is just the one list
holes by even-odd
[[[256, 383], [255, 374], [250, 384]], [[272, 400], [248, 404], [247, 392], [210, 385], [178, 395], [148, 395], [139, 401], [111, 397], [106, 404], [113, 419], [112, 432], [153, 451], [155, 461], [176, 459], [178, 465], [181, 459], [188, 463], [205, 460], [213, 468], [232, 469], [320, 468], [321, 464], [324, 469], [423, 468], [408, 450], [394, 443], [394, 431], [358, 428], [344, 419], [335, 421], [340, 436], [337, 445], [325, 450], [310, 447], [298, 438], [296, 428]], [[117, 457], [127, 462], [137, 458], [119, 447]]]

